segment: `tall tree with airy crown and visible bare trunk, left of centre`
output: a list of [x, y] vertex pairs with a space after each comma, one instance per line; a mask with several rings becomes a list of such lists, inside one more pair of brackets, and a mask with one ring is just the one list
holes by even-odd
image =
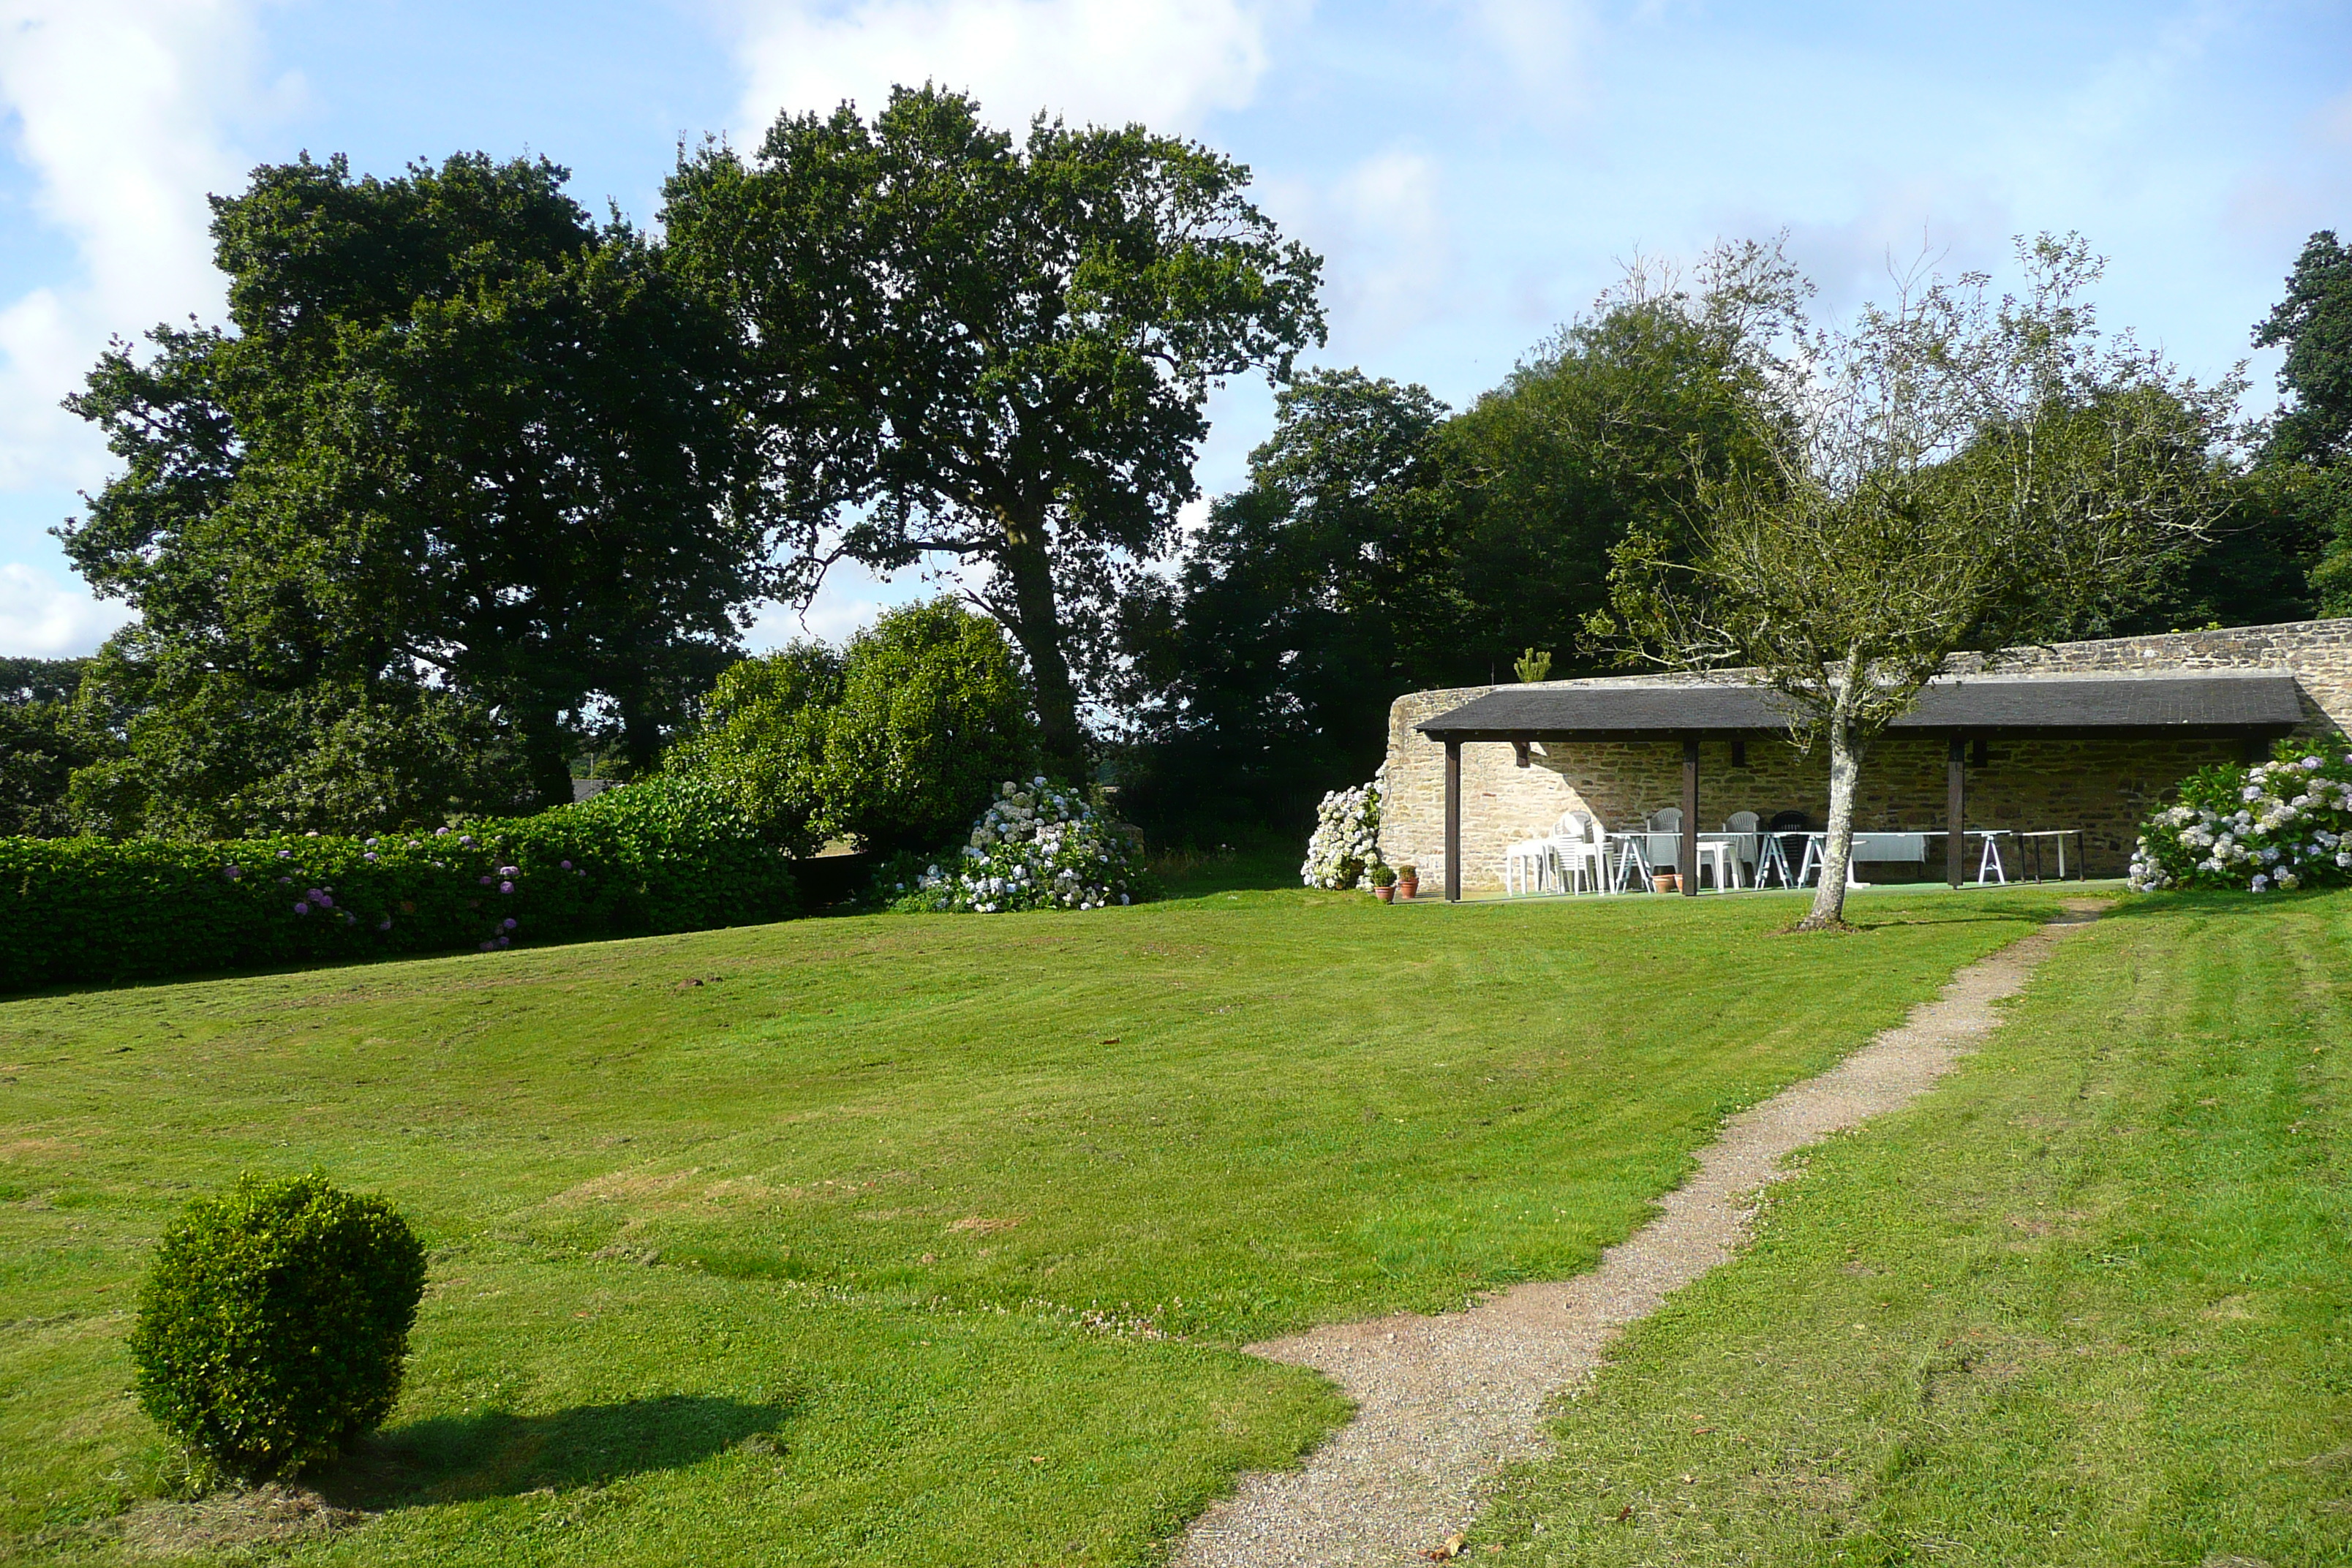
[[680, 160], [663, 226], [755, 346], [769, 489], [821, 571], [948, 557], [1021, 644], [1082, 769], [1073, 663], [1195, 496], [1204, 402], [1319, 343], [1319, 261], [1249, 172], [1143, 127], [990, 129], [936, 87]]

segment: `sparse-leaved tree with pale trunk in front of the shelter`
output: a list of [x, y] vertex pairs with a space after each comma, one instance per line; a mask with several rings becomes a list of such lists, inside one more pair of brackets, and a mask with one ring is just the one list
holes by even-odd
[[2020, 296], [1915, 273], [1849, 329], [1790, 322], [1757, 346], [1766, 456], [1703, 463], [1689, 538], [1625, 541], [1590, 623], [1635, 661], [1750, 668], [1792, 741], [1828, 748], [1802, 929], [1842, 922], [1863, 762], [1955, 654], [2096, 628], [2227, 505], [2241, 374], [2199, 386], [2103, 339], [2079, 235], [2020, 240], [2018, 261]]

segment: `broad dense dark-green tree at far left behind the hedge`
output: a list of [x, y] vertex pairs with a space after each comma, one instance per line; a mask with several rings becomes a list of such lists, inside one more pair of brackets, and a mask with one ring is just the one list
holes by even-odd
[[[332, 825], [553, 804], [567, 715], [609, 705], [652, 764], [727, 663], [771, 588], [731, 322], [564, 179], [303, 158], [214, 197], [230, 329], [118, 341], [71, 400], [125, 463], [59, 529], [141, 611], [111, 675], [139, 689], [118, 795], [313, 825], [325, 804], [261, 804], [306, 736], [433, 712], [466, 748], [503, 738], [506, 776], [409, 780]], [[252, 745], [219, 745], [223, 724]], [[412, 738], [383, 750], [395, 778]]]

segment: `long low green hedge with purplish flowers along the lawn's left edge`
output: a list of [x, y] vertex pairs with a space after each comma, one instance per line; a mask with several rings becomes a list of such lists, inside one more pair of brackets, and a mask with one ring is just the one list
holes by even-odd
[[0, 990], [699, 931], [797, 905], [783, 853], [699, 778], [372, 839], [0, 839]]

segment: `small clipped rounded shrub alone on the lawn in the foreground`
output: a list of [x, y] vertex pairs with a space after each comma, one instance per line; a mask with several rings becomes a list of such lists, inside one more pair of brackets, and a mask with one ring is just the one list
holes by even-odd
[[423, 1288], [423, 1246], [383, 1199], [247, 1175], [155, 1251], [139, 1403], [233, 1476], [327, 1460], [390, 1415]]

